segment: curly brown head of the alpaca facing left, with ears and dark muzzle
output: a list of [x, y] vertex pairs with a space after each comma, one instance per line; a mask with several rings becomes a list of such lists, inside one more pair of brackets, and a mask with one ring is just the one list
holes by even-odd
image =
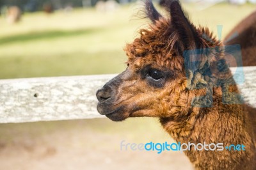
[[212, 33], [191, 24], [179, 2], [165, 6], [168, 19], [146, 1], [152, 23], [127, 44], [127, 69], [97, 91], [98, 111], [113, 121], [138, 116], [186, 119], [195, 106], [211, 107], [213, 84], [228, 72], [221, 43]]

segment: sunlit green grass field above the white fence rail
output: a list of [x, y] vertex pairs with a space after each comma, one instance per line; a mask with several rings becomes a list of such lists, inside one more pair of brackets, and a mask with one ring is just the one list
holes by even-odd
[[[0, 79], [122, 72], [125, 43], [147, 26], [147, 20], [134, 17], [139, 7], [122, 6], [113, 13], [92, 8], [52, 15], [26, 13], [13, 25], [0, 18]], [[196, 25], [215, 33], [216, 25], [223, 25], [222, 37], [254, 10], [249, 4], [217, 4], [205, 10], [184, 4], [184, 8]]]

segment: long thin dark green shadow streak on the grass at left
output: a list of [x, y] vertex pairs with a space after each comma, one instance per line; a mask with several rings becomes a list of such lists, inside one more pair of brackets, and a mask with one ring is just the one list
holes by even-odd
[[54, 38], [63, 38], [68, 36], [79, 36], [84, 34], [95, 33], [100, 29], [78, 29], [72, 31], [42, 31], [42, 32], [32, 32], [28, 34], [14, 35], [14, 36], [5, 36], [0, 38], [0, 45], [16, 42], [29, 42], [32, 40], [42, 40], [42, 39], [54, 39]]

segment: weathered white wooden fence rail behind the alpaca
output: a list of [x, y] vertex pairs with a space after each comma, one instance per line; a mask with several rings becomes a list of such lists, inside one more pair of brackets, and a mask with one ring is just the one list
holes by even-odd
[[[244, 83], [239, 88], [246, 102], [256, 106], [256, 66], [244, 67], [243, 72]], [[1, 80], [0, 123], [103, 117], [97, 112], [95, 93], [113, 77], [115, 75]]]

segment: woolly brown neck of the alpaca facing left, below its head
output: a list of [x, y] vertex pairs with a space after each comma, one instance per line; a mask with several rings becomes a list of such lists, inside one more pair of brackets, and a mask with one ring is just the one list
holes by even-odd
[[[245, 105], [223, 104], [219, 95], [213, 97], [213, 107], [191, 108], [182, 121], [161, 118], [165, 130], [180, 143], [223, 143], [222, 151], [184, 151], [196, 169], [253, 169], [256, 161], [255, 139], [248, 121]], [[254, 141], [254, 142], [253, 142]], [[245, 151], [228, 151], [225, 146], [243, 144]], [[210, 168], [211, 169], [211, 168]]]

